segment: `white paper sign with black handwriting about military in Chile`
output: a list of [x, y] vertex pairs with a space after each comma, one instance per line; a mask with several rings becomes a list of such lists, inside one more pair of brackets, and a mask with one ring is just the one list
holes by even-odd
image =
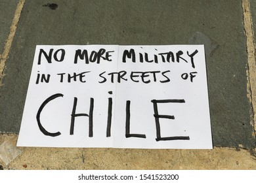
[[36, 46], [17, 145], [212, 148], [203, 45]]

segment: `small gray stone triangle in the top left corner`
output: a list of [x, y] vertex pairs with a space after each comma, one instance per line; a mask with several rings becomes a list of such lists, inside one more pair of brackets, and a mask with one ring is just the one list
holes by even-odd
[[0, 54], [3, 53], [3, 48], [5, 48], [5, 41], [8, 39], [17, 5], [18, 0], [0, 1]]

